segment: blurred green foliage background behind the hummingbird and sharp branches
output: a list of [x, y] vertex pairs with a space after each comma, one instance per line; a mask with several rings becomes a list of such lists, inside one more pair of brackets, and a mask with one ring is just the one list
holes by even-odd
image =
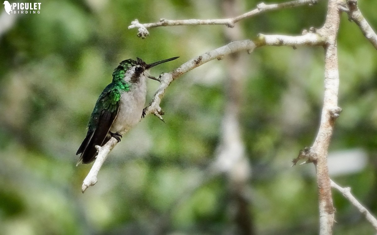
[[[274, 2], [282, 2], [276, 0]], [[174, 81], [161, 107], [123, 137], [81, 193], [76, 167], [93, 105], [121, 60], [178, 60], [231, 40], [320, 28], [326, 4], [268, 12], [226, 26], [150, 29], [134, 19], [216, 19], [255, 8], [236, 0], [55, 0], [40, 14], [0, 10], [0, 234], [317, 234], [314, 166], [291, 167], [316, 136], [323, 48], [263, 47], [215, 60]], [[265, 3], [272, 3], [270, 0]], [[377, 1], [360, 0], [377, 29]], [[342, 14], [340, 91], [331, 177], [377, 214], [377, 51]], [[158, 82], [148, 81], [147, 102]], [[335, 234], [374, 234], [333, 192]]]

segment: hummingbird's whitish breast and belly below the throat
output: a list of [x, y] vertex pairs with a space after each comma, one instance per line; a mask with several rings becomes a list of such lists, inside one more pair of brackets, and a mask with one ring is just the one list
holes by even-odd
[[145, 79], [133, 83], [130, 90], [121, 95], [118, 115], [110, 128], [110, 132], [122, 135], [141, 120], [146, 95]]

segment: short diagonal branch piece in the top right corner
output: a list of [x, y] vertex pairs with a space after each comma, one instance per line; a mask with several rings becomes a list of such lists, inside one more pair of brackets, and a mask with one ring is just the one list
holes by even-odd
[[369, 42], [372, 43], [374, 48], [377, 49], [377, 34], [373, 31], [372, 27], [362, 15], [359, 7], [357, 6], [357, 0], [347, 0], [346, 3], [348, 9], [343, 9], [343, 11], [346, 11], [348, 13], [350, 20], [359, 25], [366, 39], [368, 39]]

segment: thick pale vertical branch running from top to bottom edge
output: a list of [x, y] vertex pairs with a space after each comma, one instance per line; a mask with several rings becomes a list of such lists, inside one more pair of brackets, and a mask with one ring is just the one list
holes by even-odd
[[319, 193], [320, 235], [332, 234], [334, 224], [334, 206], [327, 166], [327, 151], [333, 135], [334, 121], [338, 115], [337, 112], [339, 112], [337, 107], [339, 70], [336, 43], [339, 21], [338, 1], [329, 0], [325, 25], [319, 29], [319, 34], [327, 39], [325, 45], [325, 93], [319, 131], [311, 148], [311, 152], [317, 156], [315, 165]]

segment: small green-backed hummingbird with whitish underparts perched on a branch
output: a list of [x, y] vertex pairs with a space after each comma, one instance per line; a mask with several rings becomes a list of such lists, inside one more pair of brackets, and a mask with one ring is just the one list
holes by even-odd
[[77, 150], [77, 165], [88, 164], [97, 156], [95, 145], [103, 146], [111, 137], [121, 141], [125, 133], [144, 116], [149, 69], [179, 57], [147, 64], [140, 58], [123, 60], [113, 72], [112, 82], [102, 91], [88, 123], [88, 132]]

